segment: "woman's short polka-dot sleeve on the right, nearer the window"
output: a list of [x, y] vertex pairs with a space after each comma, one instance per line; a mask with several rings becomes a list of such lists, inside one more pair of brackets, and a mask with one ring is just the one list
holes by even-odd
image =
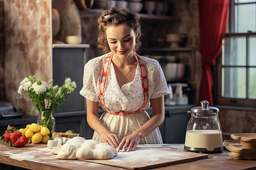
[[170, 91], [167, 86], [166, 78], [164, 77], [163, 70], [159, 64], [159, 62], [156, 63], [154, 69], [154, 91], [152, 92], [152, 95], [150, 96], [150, 99], [156, 99], [160, 96], [164, 96], [167, 94], [170, 94]]

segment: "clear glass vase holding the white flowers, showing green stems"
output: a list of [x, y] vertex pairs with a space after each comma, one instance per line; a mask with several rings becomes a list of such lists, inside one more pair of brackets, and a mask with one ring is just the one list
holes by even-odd
[[50, 131], [49, 137], [55, 130], [55, 114], [54, 111], [39, 111], [38, 125], [47, 127]]

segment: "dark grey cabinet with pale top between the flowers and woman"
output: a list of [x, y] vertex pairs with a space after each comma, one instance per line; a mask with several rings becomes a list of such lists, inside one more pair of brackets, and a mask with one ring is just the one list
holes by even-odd
[[74, 130], [85, 135], [85, 98], [80, 95], [84, 65], [86, 63], [86, 50], [89, 44], [53, 44], [52, 45], [52, 77], [53, 84], [61, 86], [66, 77], [76, 82], [77, 88], [67, 101], [55, 111], [55, 131], [65, 132]]

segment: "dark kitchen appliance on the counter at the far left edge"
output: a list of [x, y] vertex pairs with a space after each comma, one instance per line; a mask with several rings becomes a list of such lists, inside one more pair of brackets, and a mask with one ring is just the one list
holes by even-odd
[[0, 102], [0, 120], [21, 118], [22, 115], [23, 113], [19, 112], [15, 105], [7, 102]]

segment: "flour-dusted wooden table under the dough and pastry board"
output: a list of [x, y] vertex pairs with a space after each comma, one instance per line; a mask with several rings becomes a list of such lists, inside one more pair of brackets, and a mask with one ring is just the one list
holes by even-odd
[[[156, 145], [152, 145], [156, 146]], [[184, 151], [182, 144], [157, 145], [159, 148], [175, 151]], [[0, 142], [0, 163], [13, 168], [28, 169], [123, 169], [109, 165], [85, 162], [82, 160], [60, 160], [47, 151], [46, 144], [27, 144], [25, 147], [11, 148]], [[228, 155], [228, 150], [219, 154], [208, 154], [207, 159], [195, 160], [158, 167], [155, 169], [256, 169], [256, 160], [234, 160]], [[143, 161], [143, 159], [142, 159]], [[0, 165], [1, 169], [1, 165]]]

